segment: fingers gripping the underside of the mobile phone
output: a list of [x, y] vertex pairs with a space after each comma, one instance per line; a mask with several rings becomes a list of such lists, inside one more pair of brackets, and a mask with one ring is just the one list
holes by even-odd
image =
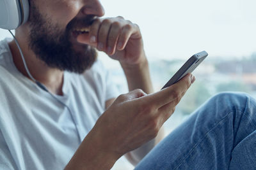
[[154, 94], [145, 96], [143, 97], [143, 99], [147, 103], [154, 104], [154, 106], [157, 109], [172, 102], [174, 104], [173, 106], [176, 106], [179, 103], [182, 96], [184, 96], [186, 91], [189, 89], [194, 78], [195, 77], [192, 74], [187, 74], [186, 76], [184, 76], [184, 78], [182, 78], [174, 85], [167, 87], [166, 89], [163, 89]]

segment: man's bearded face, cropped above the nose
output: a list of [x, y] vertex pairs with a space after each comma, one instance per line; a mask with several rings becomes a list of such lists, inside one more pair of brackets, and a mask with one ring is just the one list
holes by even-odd
[[83, 73], [97, 51], [76, 41], [75, 30], [104, 15], [99, 0], [30, 0], [29, 46], [49, 67]]

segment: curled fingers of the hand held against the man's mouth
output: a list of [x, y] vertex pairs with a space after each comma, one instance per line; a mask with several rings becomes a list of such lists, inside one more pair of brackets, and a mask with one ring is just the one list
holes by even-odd
[[138, 25], [132, 24], [123, 17], [97, 18], [90, 26], [88, 35], [81, 34], [77, 37], [80, 43], [96, 47], [99, 51], [113, 55], [116, 50], [124, 50], [132, 35], [140, 35]]

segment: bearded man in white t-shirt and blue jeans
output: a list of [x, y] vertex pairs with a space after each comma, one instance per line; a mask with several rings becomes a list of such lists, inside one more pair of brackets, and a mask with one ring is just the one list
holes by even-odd
[[[256, 167], [245, 94], [213, 97], [150, 152], [195, 77], [152, 93], [138, 25], [103, 15], [98, 0], [31, 0], [15, 32], [31, 76], [15, 42], [1, 42], [1, 169], [110, 169], [122, 155], [136, 169]], [[129, 93], [115, 99], [96, 49], [119, 60]]]

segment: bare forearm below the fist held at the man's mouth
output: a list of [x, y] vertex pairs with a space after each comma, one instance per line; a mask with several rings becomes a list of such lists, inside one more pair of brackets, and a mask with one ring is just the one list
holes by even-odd
[[139, 64], [120, 64], [124, 69], [129, 91], [141, 89], [147, 94], [154, 92], [152, 81], [150, 79], [148, 60], [146, 57], [144, 57], [144, 60]]

